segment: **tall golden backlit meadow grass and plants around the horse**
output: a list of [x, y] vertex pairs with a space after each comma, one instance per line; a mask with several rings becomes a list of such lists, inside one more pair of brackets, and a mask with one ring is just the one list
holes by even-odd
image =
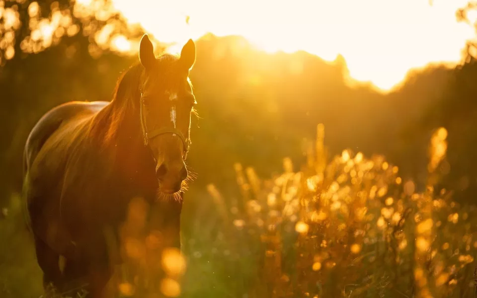
[[[383, 156], [350, 150], [327, 156], [319, 125], [299, 171], [285, 158], [282, 174], [260, 179], [236, 164], [239, 196], [224, 198], [212, 184], [207, 194], [189, 196], [183, 254], [144, 250], [154, 246], [153, 234], [125, 241], [132, 258], [113, 286], [121, 297], [474, 297], [476, 208], [436, 187], [446, 138], [445, 129], [436, 130], [427, 184], [419, 186]], [[146, 210], [140, 200], [133, 205], [129, 231]], [[17, 214], [0, 227], [8, 243], [0, 248], [0, 294], [33, 297], [41, 293], [40, 275]], [[152, 262], [169, 277], [151, 279]]]

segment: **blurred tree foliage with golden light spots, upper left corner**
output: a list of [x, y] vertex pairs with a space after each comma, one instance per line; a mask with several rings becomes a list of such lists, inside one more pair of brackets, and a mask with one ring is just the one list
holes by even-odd
[[128, 54], [118, 49], [118, 42], [124, 34], [138, 41], [143, 29], [125, 22], [108, 0], [1, 0], [0, 66], [15, 55], [40, 53], [79, 33], [88, 37], [88, 52], [98, 58], [104, 51]]

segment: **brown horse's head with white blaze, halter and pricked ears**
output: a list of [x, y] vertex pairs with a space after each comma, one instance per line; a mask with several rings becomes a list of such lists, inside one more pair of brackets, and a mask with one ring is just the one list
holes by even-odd
[[195, 63], [195, 44], [189, 40], [180, 58], [154, 55], [148, 35], [140, 42], [144, 67], [140, 84], [140, 117], [144, 144], [156, 163], [159, 191], [175, 194], [188, 177], [185, 159], [190, 144], [190, 120], [196, 104], [189, 71]]

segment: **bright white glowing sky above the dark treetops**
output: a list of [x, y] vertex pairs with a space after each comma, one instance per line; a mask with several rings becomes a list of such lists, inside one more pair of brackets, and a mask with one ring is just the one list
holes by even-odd
[[[84, 0], [83, 0], [84, 1]], [[87, 1], [87, 0], [86, 0]], [[131, 23], [161, 42], [207, 32], [242, 35], [269, 51], [305, 50], [333, 61], [341, 54], [352, 78], [388, 90], [413, 68], [455, 65], [476, 33], [458, 23], [467, 0], [113, 0]], [[189, 24], [186, 24], [189, 16]], [[118, 41], [118, 45], [125, 41]], [[122, 42], [122, 43], [121, 43]]]

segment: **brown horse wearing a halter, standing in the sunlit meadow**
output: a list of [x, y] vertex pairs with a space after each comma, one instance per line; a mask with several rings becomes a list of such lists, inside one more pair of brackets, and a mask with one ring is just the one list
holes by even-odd
[[157, 207], [161, 243], [180, 248], [195, 44], [180, 58], [157, 58], [144, 35], [139, 61], [110, 102], [55, 107], [28, 137], [23, 193], [45, 286], [62, 291], [84, 279], [91, 297], [102, 297], [112, 271], [104, 231], [118, 235], [133, 198]]

